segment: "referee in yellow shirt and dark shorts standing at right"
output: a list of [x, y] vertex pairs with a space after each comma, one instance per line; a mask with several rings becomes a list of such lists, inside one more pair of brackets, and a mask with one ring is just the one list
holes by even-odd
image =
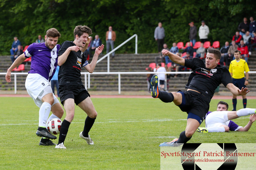
[[[245, 88], [246, 85], [248, 84], [248, 81], [249, 81], [248, 71], [250, 71], [246, 61], [241, 59], [240, 56], [241, 56], [241, 51], [235, 50], [234, 51], [235, 60], [231, 61], [229, 66], [229, 72], [232, 77], [233, 84], [237, 86], [239, 89], [241, 89], [242, 87]], [[244, 79], [244, 71], [245, 71], [246, 79]], [[242, 95], [242, 98], [243, 98], [244, 108], [246, 108], [246, 103], [247, 103], [246, 95]], [[234, 94], [232, 98], [232, 103], [233, 103], [232, 111], [236, 111], [237, 96]]]

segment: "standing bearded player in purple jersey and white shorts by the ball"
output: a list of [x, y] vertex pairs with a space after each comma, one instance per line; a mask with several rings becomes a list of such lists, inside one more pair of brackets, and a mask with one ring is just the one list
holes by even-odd
[[[59, 37], [60, 33], [55, 28], [46, 31], [45, 43], [31, 44], [23, 54], [18, 56], [5, 75], [5, 80], [10, 83], [11, 71], [26, 58], [31, 57], [31, 66], [25, 87], [30, 97], [40, 108], [39, 127], [36, 135], [42, 137], [39, 145], [43, 146], [55, 145], [50, 139], [57, 138], [46, 130], [46, 123], [53, 118], [62, 118], [64, 113], [49, 83], [57, 66], [60, 47], [57, 44]], [[49, 117], [51, 111], [53, 114]]]

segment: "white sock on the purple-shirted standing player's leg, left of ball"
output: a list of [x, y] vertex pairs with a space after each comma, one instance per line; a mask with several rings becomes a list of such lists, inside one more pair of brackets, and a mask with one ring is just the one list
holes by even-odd
[[39, 109], [39, 124], [40, 127], [46, 127], [46, 122], [48, 119], [48, 116], [51, 112], [51, 104], [47, 102], [43, 102]]

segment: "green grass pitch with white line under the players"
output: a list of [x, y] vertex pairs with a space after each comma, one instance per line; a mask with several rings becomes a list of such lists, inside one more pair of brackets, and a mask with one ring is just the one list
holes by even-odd
[[[0, 98], [1, 169], [160, 169], [159, 144], [179, 137], [187, 114], [159, 99], [92, 98], [98, 117], [89, 146], [79, 138], [85, 113], [76, 106], [65, 140], [66, 150], [39, 146], [36, 136], [39, 108], [31, 98]], [[219, 100], [212, 100], [210, 111]], [[232, 109], [231, 100], [225, 100]], [[247, 100], [255, 108], [256, 100]], [[238, 100], [237, 109], [242, 108]], [[65, 112], [62, 120], [65, 118]], [[245, 118], [235, 119], [245, 126]], [[201, 127], [204, 126], [204, 122]], [[195, 133], [190, 143], [256, 143], [256, 123], [248, 132]], [[57, 136], [58, 138], [58, 136]], [[56, 140], [53, 140], [55, 143]]]

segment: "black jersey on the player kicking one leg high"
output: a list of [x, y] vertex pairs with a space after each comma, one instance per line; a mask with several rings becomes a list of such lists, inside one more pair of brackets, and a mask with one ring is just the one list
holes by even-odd
[[193, 72], [189, 75], [186, 88], [201, 92], [209, 102], [211, 101], [215, 89], [223, 83], [232, 83], [231, 75], [226, 66], [217, 65], [214, 69], [207, 69], [205, 61], [200, 58], [185, 59], [185, 66], [191, 68]]

